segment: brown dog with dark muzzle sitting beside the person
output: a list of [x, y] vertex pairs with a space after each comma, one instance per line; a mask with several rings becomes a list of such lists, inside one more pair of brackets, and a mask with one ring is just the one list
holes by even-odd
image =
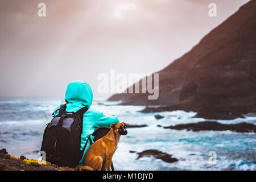
[[121, 135], [126, 135], [126, 123], [114, 123], [109, 133], [94, 142], [86, 151], [81, 169], [90, 171], [110, 171], [112, 156], [117, 149]]

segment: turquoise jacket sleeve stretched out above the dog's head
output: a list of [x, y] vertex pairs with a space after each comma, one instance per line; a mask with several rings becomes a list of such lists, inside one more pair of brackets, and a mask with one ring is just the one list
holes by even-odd
[[95, 114], [94, 127], [106, 127], [110, 129], [110, 125], [119, 123], [119, 119], [115, 115], [105, 115], [100, 111]]

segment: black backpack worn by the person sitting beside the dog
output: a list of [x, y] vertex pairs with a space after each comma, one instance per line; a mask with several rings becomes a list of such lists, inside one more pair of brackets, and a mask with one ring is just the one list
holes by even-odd
[[[66, 104], [59, 109], [47, 124], [43, 134], [41, 151], [46, 152], [46, 161], [58, 166], [76, 167], [84, 154], [85, 146], [80, 150], [82, 118], [88, 107], [82, 107], [75, 113], [66, 113]], [[90, 139], [92, 144], [92, 140]]]

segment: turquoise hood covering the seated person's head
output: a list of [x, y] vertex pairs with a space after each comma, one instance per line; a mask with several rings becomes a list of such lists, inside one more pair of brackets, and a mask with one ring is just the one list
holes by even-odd
[[90, 107], [92, 105], [93, 93], [90, 85], [85, 81], [72, 81], [68, 84], [65, 93], [65, 102], [67, 110], [80, 107]]

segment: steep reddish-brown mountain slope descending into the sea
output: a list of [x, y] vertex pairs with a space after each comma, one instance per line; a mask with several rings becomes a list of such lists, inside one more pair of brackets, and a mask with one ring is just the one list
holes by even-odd
[[156, 72], [160, 83], [157, 100], [148, 100], [148, 94], [121, 93], [109, 101], [160, 105], [146, 107], [144, 112], [196, 111], [196, 117], [207, 119], [234, 119], [256, 113], [255, 12], [256, 1], [247, 2], [191, 51]]

